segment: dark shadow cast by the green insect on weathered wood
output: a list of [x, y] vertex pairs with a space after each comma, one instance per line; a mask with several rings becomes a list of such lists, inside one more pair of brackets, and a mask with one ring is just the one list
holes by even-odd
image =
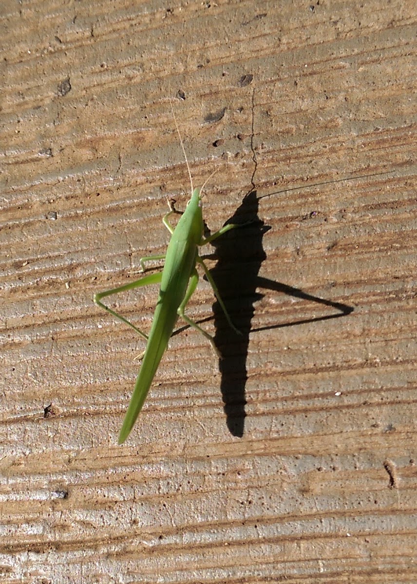
[[267, 326], [265, 329], [339, 318], [353, 311], [353, 308], [346, 304], [312, 296], [298, 288], [259, 276], [261, 264], [266, 259], [262, 239], [263, 235], [271, 227], [265, 225], [258, 217], [258, 207], [256, 190], [251, 190], [244, 196], [242, 204], [237, 208], [233, 216], [225, 223], [225, 225], [229, 223], [249, 224], [240, 229], [229, 231], [219, 239], [216, 239], [216, 241], [213, 241], [212, 245], [216, 248], [215, 253], [204, 256], [205, 258], [215, 258], [217, 260], [216, 266], [211, 270], [211, 274], [233, 322], [242, 332], [242, 335], [237, 335], [230, 328], [222, 308], [215, 301], [213, 304], [216, 331], [214, 339], [222, 354], [222, 359], [219, 359], [220, 389], [226, 423], [230, 433], [236, 437], [242, 437], [244, 433], [244, 419], [246, 417], [245, 386], [247, 381], [246, 360], [249, 334], [254, 332], [254, 329], [251, 329], [254, 303], [264, 296], [264, 294], [257, 292], [257, 288], [282, 292], [289, 296], [314, 301], [336, 310], [330, 315], [280, 323]]

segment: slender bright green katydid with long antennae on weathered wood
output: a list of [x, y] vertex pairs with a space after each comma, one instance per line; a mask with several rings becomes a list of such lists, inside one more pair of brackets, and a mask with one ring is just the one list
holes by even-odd
[[[143, 276], [139, 280], [125, 284], [125, 286], [112, 288], [111, 290], [106, 290], [94, 295], [94, 302], [98, 306], [104, 308], [104, 310], [110, 312], [110, 314], [112, 314], [114, 317], [131, 326], [147, 341], [146, 349], [143, 353], [142, 366], [140, 367], [139, 374], [136, 379], [135, 389], [133, 390], [133, 395], [130, 399], [129, 407], [127, 408], [122, 428], [120, 429], [119, 444], [125, 442], [127, 436], [129, 436], [130, 430], [132, 430], [132, 427], [136, 422], [136, 418], [142, 409], [143, 402], [146, 399], [154, 375], [156, 374], [161, 358], [167, 348], [168, 340], [173, 334], [174, 326], [177, 322], [178, 316], [181, 316], [188, 325], [201, 332], [205, 338], [211, 342], [213, 349], [219, 356], [218, 349], [215, 346], [212, 336], [203, 331], [203, 329], [196, 322], [192, 321], [191, 318], [184, 314], [185, 307], [187, 306], [187, 303], [198, 284], [198, 274], [196, 269], [197, 264], [202, 266], [205, 276], [213, 288], [215, 296], [219, 301], [223, 312], [225, 313], [229, 325], [240, 334], [240, 331], [236, 329], [235, 325], [233, 325], [232, 319], [230, 319], [225, 304], [219, 296], [219, 291], [208, 268], [204, 263], [204, 260], [198, 255], [198, 246], [209, 244], [220, 235], [226, 233], [226, 231], [229, 231], [235, 227], [240, 227], [240, 225], [228, 224], [209, 237], [204, 237], [201, 192], [208, 179], [201, 187], [201, 189], [194, 189], [192, 186], [191, 171], [189, 169], [187, 155], [185, 154], [184, 144], [182, 142], [180, 130], [178, 129], [178, 123], [177, 119], [175, 118], [171, 99], [170, 105], [175, 121], [175, 127], [177, 128], [178, 137], [180, 138], [182, 152], [184, 153], [185, 164], [187, 164], [189, 181], [191, 183], [191, 199], [189, 199], [187, 207], [185, 208], [184, 213], [182, 213], [175, 229], [171, 227], [171, 224], [168, 221], [168, 217], [171, 214], [177, 212], [173, 209], [172, 206], [170, 206], [170, 212], [167, 213], [167, 215], [165, 215], [163, 218], [163, 224], [171, 233], [171, 239], [168, 244], [166, 254], [158, 256], [147, 256], [140, 259], [140, 266], [143, 271], [144, 262], [154, 259], [164, 259], [165, 263], [163, 270], [162, 272], [150, 274], [149, 276]], [[209, 176], [209, 178], [211, 178], [211, 176]], [[102, 298], [111, 296], [111, 294], [132, 290], [133, 288], [139, 288], [140, 286], [147, 286], [147, 284], [160, 284], [158, 300], [149, 335], [146, 335], [144, 332], [140, 331], [139, 328], [103, 304], [101, 301]]]

